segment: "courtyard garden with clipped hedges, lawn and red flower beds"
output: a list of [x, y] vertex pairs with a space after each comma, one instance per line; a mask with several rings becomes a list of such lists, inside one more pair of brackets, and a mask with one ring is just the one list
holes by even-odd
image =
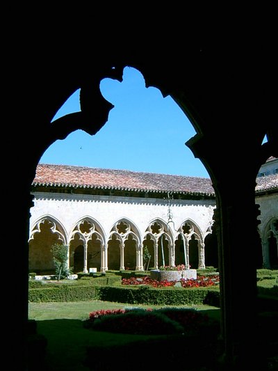
[[[205, 273], [198, 272], [197, 280], [187, 286], [155, 283], [148, 274], [127, 271], [79, 274], [77, 280], [31, 279], [33, 369], [38, 370], [39, 362], [39, 369], [47, 371], [112, 370], [130, 364], [133, 370], [148, 370], [158, 365], [161, 349], [167, 349], [161, 370], [170, 365], [215, 370], [221, 353], [219, 276]], [[257, 280], [262, 297], [275, 295], [277, 272], [260, 271]], [[277, 312], [264, 311], [261, 321], [275, 329]], [[38, 352], [38, 343], [44, 352]], [[269, 344], [268, 370], [275, 370], [272, 348], [277, 342], [272, 339]], [[204, 357], [198, 357], [199, 352]]]

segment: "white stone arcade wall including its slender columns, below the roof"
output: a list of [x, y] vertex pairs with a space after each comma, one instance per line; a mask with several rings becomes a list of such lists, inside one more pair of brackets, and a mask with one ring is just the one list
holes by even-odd
[[[42, 221], [42, 219], [50, 219], [54, 221], [54, 232], [59, 236], [60, 241], [70, 246], [70, 239], [74, 228], [76, 228], [80, 221], [89, 219], [96, 224], [96, 228], [101, 235], [102, 270], [107, 269], [107, 244], [111, 238], [111, 232], [113, 230], [115, 231], [115, 224], [117, 222], [124, 219], [132, 226], [138, 246], [136, 267], [142, 269], [142, 242], [144, 241], [147, 228], [151, 226], [154, 221], [162, 221], [165, 230], [169, 217], [169, 204], [167, 199], [54, 194], [44, 192], [35, 192], [33, 196], [34, 206], [31, 207], [30, 210], [30, 237], [33, 237], [33, 231], [38, 231], [37, 228], [40, 229], [37, 224], [39, 221]], [[278, 196], [266, 195], [257, 197], [256, 203], [259, 204], [261, 212], [259, 216], [261, 221], [259, 224], [259, 233], [262, 242], [263, 265], [264, 267], [270, 267], [270, 234], [273, 234], [278, 241], [277, 230], [275, 230], [278, 219]], [[211, 232], [214, 209], [215, 200], [170, 200], [170, 212], [172, 221], [174, 222], [174, 224], [168, 224], [171, 230], [171, 232], [167, 232], [170, 236], [170, 250], [173, 251], [174, 249], [174, 241], [177, 239], [180, 232], [178, 232], [178, 229], [184, 223], [188, 223], [190, 227], [193, 225], [198, 240], [199, 268], [205, 267], [204, 239], [206, 235]], [[191, 238], [191, 232], [186, 238], [188, 253], [188, 241]], [[158, 240], [156, 240], [156, 243], [157, 242]], [[41, 243], [42, 245], [44, 244], [44, 242]], [[87, 246], [85, 246], [85, 249], [86, 248]], [[40, 252], [38, 246], [37, 250], [38, 255]], [[157, 254], [157, 250], [155, 254]], [[171, 254], [173, 254], [173, 252]], [[42, 251], [42, 255], [40, 260], [42, 260], [43, 257], [45, 258], [45, 252]], [[36, 256], [35, 252], [33, 252], [32, 256], [33, 258]], [[172, 256], [174, 257], [174, 255]], [[189, 258], [187, 259], [189, 262]], [[169, 262], [174, 263], [174, 260], [169, 258]], [[122, 262], [122, 265], [123, 264]], [[85, 267], [85, 265], [86, 263], [84, 263], [84, 270], [86, 271], [87, 267]], [[157, 258], [154, 265], [158, 265]]]

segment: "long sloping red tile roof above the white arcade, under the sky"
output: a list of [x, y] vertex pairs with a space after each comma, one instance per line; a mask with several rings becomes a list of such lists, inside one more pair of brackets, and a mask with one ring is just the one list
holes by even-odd
[[213, 195], [211, 180], [83, 166], [38, 164], [33, 185]]

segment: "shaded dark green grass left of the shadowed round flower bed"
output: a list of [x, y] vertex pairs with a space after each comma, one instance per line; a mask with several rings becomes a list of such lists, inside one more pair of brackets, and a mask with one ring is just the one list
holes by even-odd
[[[40, 371], [88, 371], [85, 359], [88, 358], [88, 349], [96, 349], [96, 360], [99, 368], [95, 370], [106, 370], [109, 350], [114, 347], [132, 347], [133, 342], [166, 340], [167, 336], [144, 336], [128, 335], [122, 333], [108, 333], [104, 331], [91, 331], [85, 329], [83, 321], [78, 319], [52, 319], [37, 321], [37, 333], [47, 340], [46, 354], [38, 358], [38, 350], [32, 346], [29, 356], [33, 368], [30, 370]], [[104, 355], [104, 358], [102, 356]], [[115, 359], [115, 365], [117, 360]], [[97, 366], [97, 364], [96, 364]], [[113, 368], [114, 370], [117, 367]]]

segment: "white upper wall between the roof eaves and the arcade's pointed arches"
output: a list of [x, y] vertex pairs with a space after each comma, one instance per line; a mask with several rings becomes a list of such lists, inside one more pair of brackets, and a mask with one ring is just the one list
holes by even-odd
[[[51, 216], [63, 226], [69, 238], [76, 223], [89, 216], [99, 223], [107, 242], [114, 224], [120, 219], [128, 219], [138, 228], [138, 237], [142, 242], [145, 230], [152, 221], [168, 221], [168, 202], [163, 199], [39, 192], [33, 195], [30, 232], [40, 219]], [[184, 221], [190, 220], [197, 225], [204, 239], [211, 226], [214, 208], [214, 200], [171, 200], [174, 229], [177, 230]], [[169, 226], [172, 228], [172, 223]], [[172, 232], [175, 235], [174, 230]]]

